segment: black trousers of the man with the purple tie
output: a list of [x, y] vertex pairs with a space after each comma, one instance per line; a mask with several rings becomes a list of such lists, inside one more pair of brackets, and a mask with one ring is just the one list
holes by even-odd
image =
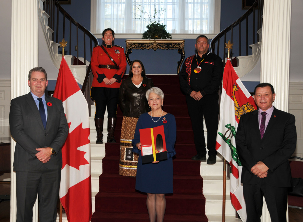
[[260, 222], [263, 196], [272, 222], [286, 222], [287, 187], [273, 187], [261, 180], [259, 184], [243, 183], [243, 195], [246, 203], [246, 222]]

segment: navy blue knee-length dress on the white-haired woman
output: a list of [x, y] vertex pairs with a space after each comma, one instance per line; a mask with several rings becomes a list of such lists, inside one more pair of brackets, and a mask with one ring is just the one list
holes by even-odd
[[[158, 120], [159, 117], [153, 117], [153, 120]], [[176, 154], [176, 120], [175, 116], [167, 113], [162, 116], [159, 121], [154, 122], [148, 113], [142, 114], [137, 122], [135, 136], [132, 140], [134, 147], [132, 152], [139, 154], [136, 190], [145, 193], [173, 193], [173, 166], [172, 157]], [[141, 150], [135, 144], [140, 142], [140, 129], [153, 128], [156, 126], [164, 126], [167, 160], [162, 160], [159, 163], [144, 163], [142, 164]]]

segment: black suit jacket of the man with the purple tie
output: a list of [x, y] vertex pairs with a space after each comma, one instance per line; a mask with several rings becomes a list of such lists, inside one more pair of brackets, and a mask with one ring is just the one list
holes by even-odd
[[240, 118], [236, 134], [236, 147], [243, 164], [241, 182], [257, 184], [261, 178], [250, 169], [262, 161], [268, 175], [262, 178], [275, 187], [291, 186], [291, 170], [288, 159], [296, 149], [295, 116], [274, 107], [271, 118], [261, 139], [258, 110]]

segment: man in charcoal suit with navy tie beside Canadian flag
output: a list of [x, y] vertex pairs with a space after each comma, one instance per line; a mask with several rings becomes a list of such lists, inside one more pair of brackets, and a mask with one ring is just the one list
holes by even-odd
[[[62, 168], [61, 147], [68, 135], [62, 102], [45, 95], [47, 73], [29, 71], [31, 92], [12, 99], [9, 113], [11, 135], [17, 144], [17, 222], [32, 221], [32, 208], [39, 197], [40, 221], [56, 221]], [[41, 99], [42, 98], [42, 99]]]

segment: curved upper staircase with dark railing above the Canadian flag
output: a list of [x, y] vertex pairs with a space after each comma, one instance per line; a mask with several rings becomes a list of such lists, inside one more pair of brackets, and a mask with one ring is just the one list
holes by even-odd
[[[59, 20], [59, 17], [63, 17], [63, 19]], [[65, 52], [70, 54], [65, 55], [65, 60], [77, 83], [82, 85], [87, 71], [90, 71], [88, 70], [90, 63], [86, 58], [91, 58], [93, 46], [98, 45], [97, 38], [83, 26], [78, 24], [77, 21], [72, 19], [72, 17], [63, 10], [57, 0], [38, 0], [38, 18], [52, 63], [57, 69], [60, 68], [62, 54], [58, 53], [58, 49], [60, 47], [58, 42], [65, 38], [69, 43], [69, 47], [66, 47]], [[72, 32], [72, 30], [74, 32]], [[81, 36], [78, 36], [78, 32], [79, 35], [81, 33]], [[77, 38], [77, 40], [75, 40], [75, 38]], [[90, 43], [89, 50], [86, 50], [86, 41]], [[72, 43], [78, 46], [77, 51], [72, 51]], [[80, 49], [79, 45], [83, 44], [83, 49], [82, 47]], [[82, 57], [79, 57], [79, 53]], [[77, 56], [72, 56], [72, 54], [76, 54]], [[83, 65], [73, 65], [75, 58], [81, 61]]]

